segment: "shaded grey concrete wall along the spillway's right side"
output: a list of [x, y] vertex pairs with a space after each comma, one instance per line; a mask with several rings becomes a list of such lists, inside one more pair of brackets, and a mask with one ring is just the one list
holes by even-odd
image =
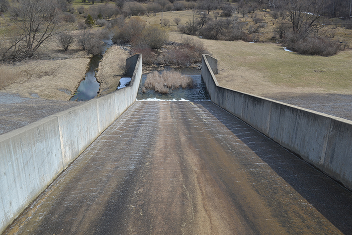
[[274, 100], [222, 88], [202, 57], [202, 77], [210, 99], [280, 145], [352, 190], [352, 122]]

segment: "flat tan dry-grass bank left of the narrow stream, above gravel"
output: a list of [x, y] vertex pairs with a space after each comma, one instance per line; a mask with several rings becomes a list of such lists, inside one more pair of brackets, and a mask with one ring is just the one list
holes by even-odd
[[83, 79], [88, 63], [89, 58], [21, 62], [13, 65], [19, 71], [19, 79], [0, 92], [68, 101]]

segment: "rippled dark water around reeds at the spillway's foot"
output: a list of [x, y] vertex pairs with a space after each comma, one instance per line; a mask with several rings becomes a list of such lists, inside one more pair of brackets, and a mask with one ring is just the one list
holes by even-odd
[[[178, 69], [175, 69], [178, 70]], [[191, 76], [195, 82], [195, 88], [170, 90], [169, 94], [159, 94], [153, 90], [142, 92], [142, 86], [147, 79], [147, 74], [142, 75], [142, 81], [139, 86], [137, 100], [189, 100], [189, 101], [205, 101], [210, 100], [205, 83], [202, 80], [201, 71], [195, 68], [179, 69], [182, 74]]]

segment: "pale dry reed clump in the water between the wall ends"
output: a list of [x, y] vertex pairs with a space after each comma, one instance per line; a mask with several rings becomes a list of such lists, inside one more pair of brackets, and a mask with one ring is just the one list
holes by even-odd
[[153, 71], [147, 75], [142, 91], [154, 90], [161, 94], [168, 94], [170, 89], [193, 88], [194, 81], [192, 77], [181, 74], [181, 72], [169, 70], [161, 74]]

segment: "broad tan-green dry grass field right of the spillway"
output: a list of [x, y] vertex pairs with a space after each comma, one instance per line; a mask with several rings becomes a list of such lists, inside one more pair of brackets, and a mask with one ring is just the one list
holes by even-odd
[[[170, 32], [174, 41], [183, 37], [179, 32]], [[288, 52], [276, 43], [200, 40], [219, 61], [216, 77], [220, 86], [262, 96], [352, 94], [352, 50], [322, 57]]]

